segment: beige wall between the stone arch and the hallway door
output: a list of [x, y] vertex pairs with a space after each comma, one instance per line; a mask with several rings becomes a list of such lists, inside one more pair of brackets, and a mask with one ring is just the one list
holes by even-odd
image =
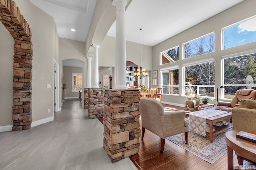
[[[28, 0], [14, 1], [32, 32], [32, 121], [53, 117], [54, 58], [58, 61], [58, 34], [54, 19]], [[46, 88], [46, 84], [51, 88]], [[50, 113], [48, 109], [51, 109]]]

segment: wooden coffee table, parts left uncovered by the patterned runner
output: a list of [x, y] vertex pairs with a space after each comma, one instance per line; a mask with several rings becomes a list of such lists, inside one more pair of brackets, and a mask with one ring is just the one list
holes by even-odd
[[[190, 113], [186, 113], [185, 117], [188, 118], [189, 114], [195, 113], [195, 112], [196, 111], [190, 112]], [[206, 132], [206, 135], [208, 135], [210, 137], [210, 142], [211, 143], [212, 143], [212, 136], [218, 135], [218, 134], [226, 131], [227, 129], [232, 128], [232, 125], [229, 125], [229, 124], [226, 124], [226, 123], [224, 123], [220, 127], [219, 126], [214, 126], [213, 123], [215, 123], [217, 121], [224, 120], [224, 119], [228, 119], [230, 117], [232, 117], [232, 113], [231, 112], [223, 111], [223, 114], [221, 114], [221, 115], [217, 115], [217, 116], [206, 118], [206, 126], [210, 127], [210, 131]], [[212, 131], [212, 127], [214, 127], [214, 129], [215, 129], [214, 132]]]

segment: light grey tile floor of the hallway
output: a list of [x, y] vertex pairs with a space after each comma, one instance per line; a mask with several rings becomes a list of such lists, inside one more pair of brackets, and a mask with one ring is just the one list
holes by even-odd
[[137, 170], [129, 158], [111, 163], [103, 129], [78, 99], [66, 99], [54, 121], [0, 133], [0, 170]]

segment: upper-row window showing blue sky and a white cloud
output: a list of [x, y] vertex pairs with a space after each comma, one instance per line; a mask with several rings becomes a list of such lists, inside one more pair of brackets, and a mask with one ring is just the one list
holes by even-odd
[[256, 17], [223, 29], [222, 49], [254, 41], [256, 41]]

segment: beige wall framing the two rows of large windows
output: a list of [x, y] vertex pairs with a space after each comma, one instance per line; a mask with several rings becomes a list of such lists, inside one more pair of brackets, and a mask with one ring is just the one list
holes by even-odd
[[[246, 0], [232, 8], [229, 8], [226, 11], [221, 12], [220, 14], [217, 14], [216, 16], [213, 16], [212, 18], [210, 18], [206, 21], [203, 21], [202, 23], [199, 23], [198, 25], [195, 25], [194, 27], [191, 27], [190, 29], [187, 29], [186, 31], [183, 31], [182, 33], [180, 33], [174, 37], [171, 37], [170, 39], [167, 39], [166, 41], [154, 46], [152, 62], [154, 63], [153, 70], [158, 70], [158, 84], [159, 84], [159, 70], [161, 68], [178, 66], [178, 68], [180, 70], [180, 72], [179, 72], [179, 80], [180, 80], [179, 89], [181, 90], [182, 84], [184, 83], [184, 82], [182, 82], [182, 81], [184, 81], [183, 77], [182, 77], [182, 71], [181, 71], [182, 64], [214, 58], [214, 60], [215, 60], [215, 85], [220, 86], [222, 84], [222, 82], [221, 82], [221, 57], [224, 55], [239, 53], [242, 51], [249, 51], [249, 50], [256, 48], [256, 42], [254, 42], [254, 43], [250, 43], [250, 44], [246, 44], [246, 45], [240, 45], [237, 47], [233, 47], [230, 49], [221, 50], [220, 49], [221, 48], [221, 29], [230, 24], [239, 22], [241, 20], [244, 20], [246, 18], [256, 15], [256, 10], [254, 9], [255, 6], [256, 6], [256, 1]], [[183, 60], [182, 60], [182, 56], [180, 56], [179, 61], [164, 64], [161, 66], [159, 65], [160, 52], [166, 51], [167, 49], [176, 47], [178, 45], [180, 47], [179, 54], [181, 55], [183, 43], [186, 43], [188, 41], [191, 41], [193, 39], [196, 39], [198, 37], [201, 37], [201, 36], [206, 35], [211, 32], [215, 32], [215, 52], [204, 54], [204, 55], [198, 56], [198, 57], [192, 57], [190, 59], [183, 59]], [[182, 93], [180, 91], [179, 96], [163, 95], [162, 101], [184, 105], [185, 101], [186, 101], [186, 97], [182, 96]]]

